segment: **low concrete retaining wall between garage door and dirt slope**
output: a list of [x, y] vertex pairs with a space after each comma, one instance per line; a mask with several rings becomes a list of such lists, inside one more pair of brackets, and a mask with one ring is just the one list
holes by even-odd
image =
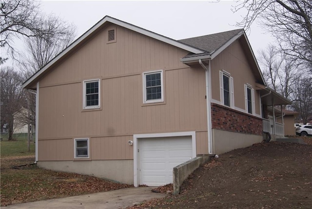
[[201, 164], [209, 161], [210, 156], [195, 157], [173, 169], [174, 194], [180, 192], [180, 186], [187, 177]]

